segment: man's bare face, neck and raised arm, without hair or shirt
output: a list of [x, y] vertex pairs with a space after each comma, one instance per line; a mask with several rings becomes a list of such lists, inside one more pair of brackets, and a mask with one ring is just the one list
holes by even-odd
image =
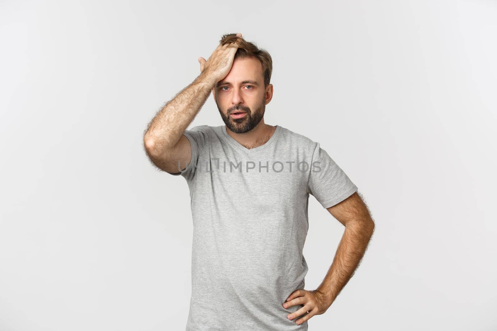
[[[237, 49], [236, 42], [220, 44], [208, 60], [198, 58], [200, 75], [167, 102], [150, 122], [144, 146], [147, 156], [159, 169], [177, 174], [189, 164], [191, 147], [183, 132], [211, 92], [227, 123], [227, 133], [246, 148], [264, 144], [275, 131], [276, 127], [264, 124], [263, 120], [265, 105], [272, 98], [272, 85], [263, 86], [262, 66], [253, 58], [234, 61]], [[241, 79], [240, 74], [247, 76]], [[224, 78], [231, 84], [220, 91], [216, 85]], [[242, 84], [247, 79], [257, 83], [250, 84], [254, 91], [248, 84]], [[240, 109], [248, 112], [246, 119], [228, 118], [232, 111]]]

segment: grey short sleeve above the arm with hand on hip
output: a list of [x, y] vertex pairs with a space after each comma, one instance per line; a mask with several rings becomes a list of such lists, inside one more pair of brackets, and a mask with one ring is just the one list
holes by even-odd
[[319, 142], [316, 142], [310, 168], [307, 193], [313, 195], [324, 208], [347, 199], [357, 191], [357, 186], [321, 148]]

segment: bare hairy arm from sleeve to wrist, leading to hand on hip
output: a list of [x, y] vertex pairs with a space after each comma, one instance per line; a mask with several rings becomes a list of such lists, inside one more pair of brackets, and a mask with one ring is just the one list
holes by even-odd
[[331, 305], [364, 256], [375, 225], [366, 204], [357, 192], [327, 210], [345, 226], [333, 263], [316, 290], [321, 292]]

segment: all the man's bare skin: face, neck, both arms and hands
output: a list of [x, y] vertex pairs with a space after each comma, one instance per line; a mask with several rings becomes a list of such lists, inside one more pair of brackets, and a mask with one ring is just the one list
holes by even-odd
[[[242, 37], [239, 33], [237, 36]], [[191, 158], [188, 139], [182, 134], [212, 92], [226, 132], [246, 148], [258, 147], [271, 137], [276, 127], [264, 124], [264, 111], [273, 95], [273, 86], [264, 87], [262, 65], [255, 58], [234, 60], [238, 46], [219, 45], [208, 60], [200, 57], [201, 74], [169, 101], [154, 117], [144, 134], [147, 155], [160, 169], [173, 173]], [[245, 81], [251, 82], [245, 82]], [[244, 118], [231, 114], [246, 111]], [[327, 208], [345, 230], [328, 273], [315, 290], [290, 293], [284, 308], [303, 305], [289, 320], [302, 324], [330, 308], [359, 265], [374, 231], [369, 210], [356, 192]], [[300, 318], [299, 318], [300, 317]]]

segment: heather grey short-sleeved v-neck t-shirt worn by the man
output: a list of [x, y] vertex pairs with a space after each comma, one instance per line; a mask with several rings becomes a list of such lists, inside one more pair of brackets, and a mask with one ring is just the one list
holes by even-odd
[[251, 149], [224, 125], [184, 135], [191, 161], [173, 175], [188, 183], [193, 218], [186, 331], [307, 330], [287, 318], [303, 306], [282, 304], [305, 285], [309, 194], [328, 208], [357, 187], [318, 142], [278, 125]]

